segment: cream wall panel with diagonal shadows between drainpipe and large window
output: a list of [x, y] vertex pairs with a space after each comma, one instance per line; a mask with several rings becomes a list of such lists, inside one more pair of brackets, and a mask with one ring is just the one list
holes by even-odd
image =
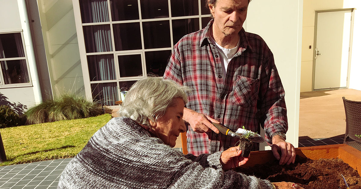
[[84, 96], [84, 81], [71, 0], [38, 0], [53, 95]]

